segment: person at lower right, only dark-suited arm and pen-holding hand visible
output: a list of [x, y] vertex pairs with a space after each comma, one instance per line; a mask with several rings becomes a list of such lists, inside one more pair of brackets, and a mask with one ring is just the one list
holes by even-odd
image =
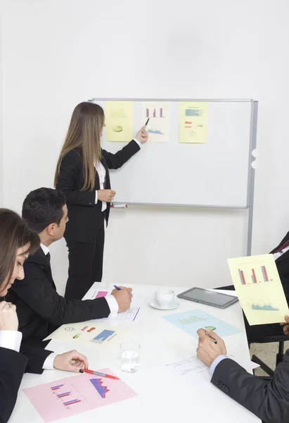
[[[289, 317], [283, 326], [289, 333]], [[208, 335], [207, 335], [208, 333]], [[289, 350], [276, 368], [274, 379], [264, 381], [226, 357], [226, 345], [213, 331], [199, 329], [198, 359], [212, 374], [211, 382], [264, 423], [289, 422]], [[213, 339], [217, 341], [214, 343]]]

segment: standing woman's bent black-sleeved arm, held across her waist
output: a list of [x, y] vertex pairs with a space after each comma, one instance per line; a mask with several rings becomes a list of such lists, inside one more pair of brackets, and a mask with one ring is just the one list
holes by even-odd
[[79, 171], [82, 172], [82, 159], [76, 151], [72, 150], [61, 161], [56, 188], [66, 195], [68, 206], [94, 206], [96, 199], [96, 192], [94, 190], [75, 190]]

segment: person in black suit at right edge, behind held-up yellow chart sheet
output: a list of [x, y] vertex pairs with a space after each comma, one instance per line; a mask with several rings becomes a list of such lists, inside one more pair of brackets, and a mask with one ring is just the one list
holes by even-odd
[[[287, 235], [285, 235], [285, 238], [281, 240], [281, 243], [278, 245], [278, 247], [274, 248], [270, 254], [273, 254], [275, 259], [278, 274], [281, 278], [285, 297], [289, 305], [289, 232]], [[235, 290], [235, 287], [233, 285], [222, 286], [218, 289]], [[260, 341], [267, 336], [279, 336], [283, 334], [282, 328], [278, 323], [257, 324], [255, 326], [250, 326], [248, 320], [245, 317], [245, 314], [244, 321], [249, 343]]]

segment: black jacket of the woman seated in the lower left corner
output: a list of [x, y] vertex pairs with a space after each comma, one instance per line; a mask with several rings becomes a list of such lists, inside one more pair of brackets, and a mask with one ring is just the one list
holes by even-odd
[[21, 347], [20, 353], [8, 348], [0, 348], [0, 423], [8, 422], [15, 402], [20, 383], [25, 372], [43, 372], [48, 350]]

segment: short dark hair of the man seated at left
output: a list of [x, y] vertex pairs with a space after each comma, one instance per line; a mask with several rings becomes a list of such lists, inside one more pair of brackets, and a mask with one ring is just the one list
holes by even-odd
[[31, 191], [23, 202], [22, 216], [35, 232], [42, 232], [51, 223], [60, 225], [65, 195], [60, 190], [39, 188]]

